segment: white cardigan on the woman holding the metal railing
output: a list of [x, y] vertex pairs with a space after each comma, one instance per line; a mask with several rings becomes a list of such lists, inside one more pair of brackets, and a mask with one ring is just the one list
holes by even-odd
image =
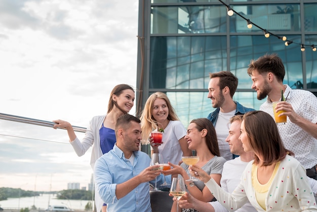
[[[77, 137], [72, 142], [70, 142], [71, 146], [73, 147], [78, 156], [83, 156], [87, 152], [87, 150], [91, 146], [93, 146], [90, 159], [90, 165], [93, 168], [93, 170], [96, 160], [103, 155], [100, 147], [99, 130], [102, 127], [102, 123], [105, 117], [106, 115], [93, 117], [89, 122], [89, 126], [87, 127], [87, 131], [82, 142]], [[96, 189], [94, 193], [96, 210], [99, 212], [101, 211], [103, 201], [99, 197], [98, 192], [96, 192]]]

